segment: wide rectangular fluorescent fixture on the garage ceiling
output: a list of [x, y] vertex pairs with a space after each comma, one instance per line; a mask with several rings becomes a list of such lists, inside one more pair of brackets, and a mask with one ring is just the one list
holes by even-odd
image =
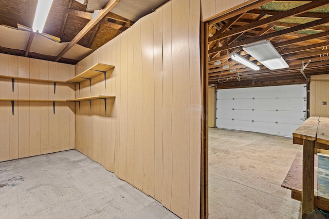
[[276, 48], [267, 40], [248, 44], [243, 47], [243, 50], [270, 70], [289, 67]]

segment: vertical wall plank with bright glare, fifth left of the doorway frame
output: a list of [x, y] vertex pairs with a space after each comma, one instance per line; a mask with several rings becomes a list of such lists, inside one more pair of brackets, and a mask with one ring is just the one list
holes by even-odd
[[143, 192], [154, 197], [154, 13], [141, 18], [143, 69]]

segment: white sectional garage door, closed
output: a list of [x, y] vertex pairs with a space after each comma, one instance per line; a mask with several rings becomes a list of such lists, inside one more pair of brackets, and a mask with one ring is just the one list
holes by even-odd
[[217, 90], [216, 126], [292, 136], [305, 119], [305, 86]]

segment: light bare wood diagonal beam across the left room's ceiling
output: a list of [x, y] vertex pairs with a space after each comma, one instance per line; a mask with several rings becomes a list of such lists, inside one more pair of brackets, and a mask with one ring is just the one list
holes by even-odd
[[120, 0], [109, 0], [109, 2], [104, 6], [103, 9], [98, 11], [98, 16], [95, 19], [90, 20], [88, 24], [82, 28], [82, 30], [72, 39], [72, 41], [55, 57], [54, 61], [58, 62], [63, 55], [70, 50], [76, 43], [80, 41], [80, 39], [86, 35], [89, 30], [91, 30], [101, 19], [111, 10], [113, 9]]

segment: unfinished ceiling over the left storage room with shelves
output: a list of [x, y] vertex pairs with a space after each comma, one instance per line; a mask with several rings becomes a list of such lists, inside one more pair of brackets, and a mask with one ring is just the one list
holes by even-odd
[[[25, 36], [27, 34], [28, 36], [25, 36], [26, 39], [17, 39], [17, 35], [19, 35], [17, 34], [18, 30], [8, 30], [8, 27], [6, 27], [17, 28], [17, 25], [23, 25], [31, 28], [38, 0], [3, 0], [0, 2], [0, 25], [3, 25], [3, 29], [6, 29], [7, 32], [13, 32], [12, 35], [7, 35], [7, 40], [9, 38], [13, 41], [12, 44], [15, 44], [14, 39], [16, 38], [17, 42], [21, 42], [24, 46], [21, 45], [21, 47], [18, 47], [19, 45], [17, 44], [14, 46], [4, 46], [8, 44], [5, 44], [5, 39], [2, 38], [0, 39], [0, 45], [2, 45], [0, 46], [0, 53], [76, 64], [84, 56], [98, 49], [129, 28], [140, 17], [154, 11], [167, 1], [143, 0], [137, 2], [133, 0], [105, 0], [108, 3], [103, 9], [109, 12], [101, 15], [102, 10], [100, 10], [98, 13], [99, 16], [96, 17], [98, 19], [95, 20], [96, 18], [93, 19], [94, 11], [87, 11], [88, 4], [84, 5], [79, 3], [81, 1], [74, 0], [53, 0], [43, 33], [58, 37], [61, 45], [58, 46], [59, 42], [56, 42], [58, 44], [57, 47], [60, 48], [60, 52], [53, 50], [51, 53], [44, 52], [48, 49], [46, 48], [48, 45], [47, 43], [39, 43], [39, 34], [34, 34], [30, 31], [28, 33], [22, 33], [20, 29], [21, 35]], [[89, 3], [89, 8], [91, 6], [95, 6], [92, 1]], [[2, 34], [4, 34], [4, 31], [2, 31]], [[45, 42], [45, 39], [43, 39], [43, 42]], [[69, 43], [64, 44], [65, 42]], [[50, 42], [49, 44], [56, 43]], [[74, 47], [76, 43], [82, 47]], [[66, 50], [62, 51], [65, 48]], [[49, 50], [51, 49], [53, 48], [49, 48]], [[80, 55], [70, 54], [82, 50], [84, 53]]]

